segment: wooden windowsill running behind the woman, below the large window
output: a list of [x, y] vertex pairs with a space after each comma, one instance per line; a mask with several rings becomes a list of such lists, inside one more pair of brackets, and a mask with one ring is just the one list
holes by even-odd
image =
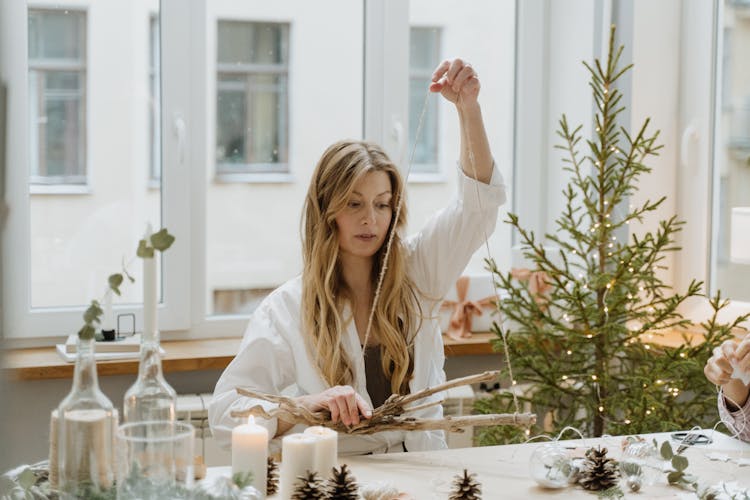
[[[455, 341], [443, 337], [447, 357], [493, 354], [490, 340], [493, 333], [475, 333], [468, 339]], [[191, 339], [162, 342], [165, 372], [223, 370], [234, 359], [240, 347], [240, 337], [220, 339]], [[63, 361], [54, 347], [8, 349], [5, 351], [3, 374], [10, 380], [64, 379], [73, 376], [74, 363]], [[138, 373], [138, 358], [99, 361], [100, 376], [131, 375]]]

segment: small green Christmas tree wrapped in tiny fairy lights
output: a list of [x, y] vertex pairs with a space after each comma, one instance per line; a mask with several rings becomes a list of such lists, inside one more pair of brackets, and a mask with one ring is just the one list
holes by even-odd
[[[591, 436], [710, 427], [716, 391], [703, 366], [713, 348], [749, 317], [719, 323], [727, 301], [717, 295], [710, 301], [711, 319], [702, 324], [705, 341], [689, 345], [683, 335], [684, 345], [665, 347], [644, 338], [690, 324], [679, 308], [704, 295], [696, 281], [675, 293], [658, 274], [665, 253], [679, 250], [675, 238], [682, 221], [662, 220], [658, 229], [642, 235], [630, 231], [665, 200], [627, 208], [640, 177], [651, 170], [646, 161], [661, 146], [659, 133], [648, 132], [648, 120], [632, 134], [617, 124], [625, 107], [616, 85], [631, 66], [620, 66], [623, 48], [614, 46], [614, 34], [613, 27], [604, 65], [584, 63], [597, 109], [593, 138], [585, 140], [581, 126], [572, 128], [564, 115], [559, 122], [559, 147], [572, 180], [563, 190], [566, 207], [556, 231], [545, 237], [560, 251], [548, 253], [517, 215], [509, 214], [507, 221], [518, 232], [532, 271], [547, 275], [550, 290], [531, 293], [488, 260], [497, 286], [507, 293], [498, 304], [506, 330], [494, 325], [494, 348], [503, 352], [502, 339], [507, 339], [518, 401], [538, 415], [532, 435], [554, 435], [566, 426]], [[507, 369], [504, 377], [510, 378]], [[480, 399], [475, 409], [516, 411], [509, 391]], [[482, 429], [477, 436], [483, 445], [525, 439], [513, 427]]]

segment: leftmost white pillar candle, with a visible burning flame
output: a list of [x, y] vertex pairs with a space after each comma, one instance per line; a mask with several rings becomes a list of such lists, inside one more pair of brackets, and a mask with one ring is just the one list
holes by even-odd
[[268, 430], [248, 417], [246, 424], [232, 429], [232, 474], [253, 475], [252, 485], [266, 495], [268, 472]]

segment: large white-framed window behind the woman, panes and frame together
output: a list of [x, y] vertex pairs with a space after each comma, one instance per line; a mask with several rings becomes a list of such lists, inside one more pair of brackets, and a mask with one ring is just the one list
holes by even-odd
[[[415, 110], [441, 52], [480, 68], [493, 152], [511, 180], [514, 0], [475, 0], [461, 16], [450, 0], [31, 4], [0, 2], [3, 42], [17, 42], [0, 44], [0, 78], [9, 96], [20, 96], [8, 100], [14, 168], [6, 171], [11, 210], [0, 242], [11, 259], [2, 273], [8, 338], [75, 331], [123, 259], [140, 281], [140, 262], [130, 259], [147, 221], [177, 237], [161, 260], [163, 337], [240, 335], [242, 315], [301, 271], [304, 194], [322, 152], [342, 138], [381, 144], [406, 172], [401, 155], [412, 130], [420, 149], [410, 180], [439, 181], [409, 183], [408, 231], [418, 230], [456, 188], [454, 106], [430, 95], [414, 141]], [[84, 184], [36, 186], [29, 196], [30, 176], [42, 167], [15, 166], [33, 165], [40, 155], [28, 144], [49, 135], [31, 130], [38, 114], [29, 96], [43, 93], [28, 82], [49, 70], [38, 36], [47, 15], [79, 33], [54, 50], [68, 47], [66, 64], [76, 61], [71, 102], [80, 109], [75, 117], [68, 110], [58, 143], [79, 154]], [[12, 50], [18, 46], [29, 53]], [[410, 92], [418, 96], [411, 108]], [[509, 259], [508, 241], [499, 225], [490, 240], [498, 261]], [[472, 272], [481, 272], [483, 257]], [[135, 313], [136, 329], [139, 284], [124, 286], [114, 304], [116, 313]]]

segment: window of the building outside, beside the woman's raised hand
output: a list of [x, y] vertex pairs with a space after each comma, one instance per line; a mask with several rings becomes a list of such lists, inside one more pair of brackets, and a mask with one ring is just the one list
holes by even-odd
[[[440, 29], [411, 28], [409, 48], [409, 154], [418, 139], [412, 171], [438, 172], [438, 101], [425, 94], [440, 62]], [[420, 119], [422, 130], [417, 138]]]

